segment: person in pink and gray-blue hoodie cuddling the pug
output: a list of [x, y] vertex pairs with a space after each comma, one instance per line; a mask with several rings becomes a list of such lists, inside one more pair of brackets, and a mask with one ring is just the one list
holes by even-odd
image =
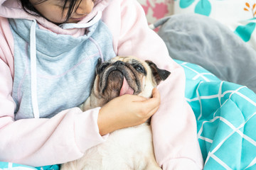
[[[151, 117], [162, 169], [202, 169], [185, 74], [136, 0], [0, 0], [0, 161], [82, 157], [110, 132]], [[152, 98], [124, 95], [82, 113], [99, 57], [134, 55], [171, 72]], [[160, 104], [161, 103], [161, 104]]]

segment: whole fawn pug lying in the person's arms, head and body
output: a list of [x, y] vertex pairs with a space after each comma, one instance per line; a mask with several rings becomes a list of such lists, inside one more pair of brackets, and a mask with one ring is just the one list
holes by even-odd
[[[98, 62], [92, 91], [80, 106], [82, 111], [104, 106], [117, 96], [133, 94], [151, 97], [160, 81], [171, 73], [149, 60], [114, 57]], [[87, 149], [84, 156], [61, 165], [60, 170], [157, 170], [149, 121], [111, 132], [100, 145]]]

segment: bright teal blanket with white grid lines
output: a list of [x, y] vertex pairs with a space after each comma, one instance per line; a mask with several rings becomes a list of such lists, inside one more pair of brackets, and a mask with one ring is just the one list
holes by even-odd
[[[220, 81], [196, 64], [176, 62], [185, 70], [186, 100], [196, 115], [204, 169], [256, 169], [256, 94], [246, 86]], [[9, 166], [22, 165], [0, 162], [0, 169]]]

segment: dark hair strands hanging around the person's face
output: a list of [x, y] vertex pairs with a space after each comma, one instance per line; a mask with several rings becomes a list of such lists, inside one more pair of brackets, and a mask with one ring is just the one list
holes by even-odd
[[[46, 18], [39, 11], [36, 10], [34, 5], [41, 4], [41, 3], [43, 3], [44, 1], [47, 1], [47, 0], [38, 0], [35, 4], [31, 4], [31, 2], [29, 0], [19, 0], [19, 1], [21, 2], [22, 8], [27, 13], [29, 13], [29, 14], [31, 14], [33, 16], [42, 16], [43, 18]], [[73, 11], [76, 10], [76, 8], [78, 8], [78, 6], [79, 6], [81, 1], [82, 0], [63, 0], [63, 10], [65, 8], [65, 5], [67, 3], [69, 4], [66, 21], [68, 21], [68, 18], [70, 18], [70, 16], [73, 13]]]

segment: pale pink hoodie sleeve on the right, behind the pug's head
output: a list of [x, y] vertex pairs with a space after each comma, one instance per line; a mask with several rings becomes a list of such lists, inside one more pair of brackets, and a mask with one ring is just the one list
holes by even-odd
[[114, 1], [112, 8], [105, 11], [112, 13], [112, 20], [105, 18], [105, 21], [112, 30], [117, 54], [151, 60], [171, 72], [158, 86], [161, 106], [151, 119], [156, 161], [164, 170], [203, 169], [196, 118], [185, 101], [183, 68], [171, 59], [163, 40], [148, 28], [142, 6], [136, 0], [122, 0], [120, 10], [114, 14], [117, 3]]

